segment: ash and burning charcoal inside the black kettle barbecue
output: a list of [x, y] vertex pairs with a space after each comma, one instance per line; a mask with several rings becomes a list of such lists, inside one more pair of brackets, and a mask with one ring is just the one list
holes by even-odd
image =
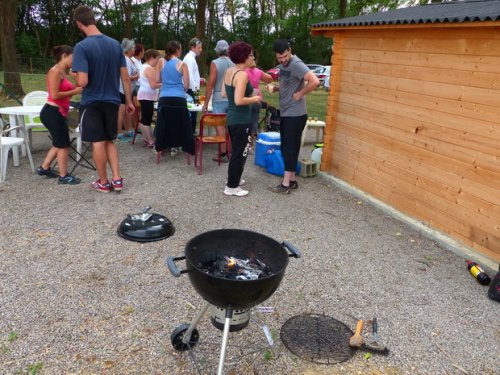
[[225, 256], [214, 261], [199, 263], [198, 268], [212, 276], [230, 280], [257, 280], [272, 275], [269, 267], [257, 258], [241, 259]]

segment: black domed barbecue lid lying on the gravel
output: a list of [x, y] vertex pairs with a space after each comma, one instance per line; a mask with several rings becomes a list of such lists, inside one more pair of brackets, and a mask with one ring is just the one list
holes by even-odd
[[175, 228], [163, 215], [150, 213], [146, 207], [140, 214], [127, 215], [118, 227], [118, 235], [130, 241], [152, 242], [172, 236]]

